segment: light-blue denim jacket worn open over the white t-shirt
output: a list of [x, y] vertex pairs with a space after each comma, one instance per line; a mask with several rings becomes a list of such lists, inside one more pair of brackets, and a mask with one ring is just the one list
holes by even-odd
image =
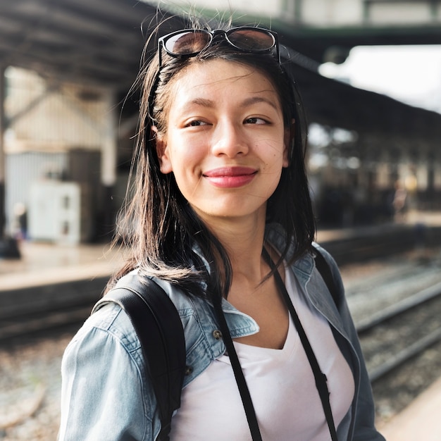
[[[285, 235], [278, 227], [268, 230], [267, 239], [276, 249], [285, 247]], [[344, 299], [340, 273], [332, 257], [327, 253], [325, 256], [339, 288], [337, 302], [315, 271], [313, 256], [308, 254], [299, 259], [291, 270], [306, 293], [307, 301], [327, 318], [354, 375], [354, 399], [337, 428], [338, 439], [384, 441], [374, 428], [371, 385]], [[209, 302], [189, 298], [167, 282], [156, 281], [172, 299], [184, 327], [185, 387], [225, 352], [225, 345]], [[258, 332], [256, 322], [227, 301], [223, 302], [223, 311], [233, 338]], [[68, 344], [61, 371], [59, 441], [156, 440], [161, 423], [142, 349], [128, 316], [118, 305], [106, 304], [87, 319]]]

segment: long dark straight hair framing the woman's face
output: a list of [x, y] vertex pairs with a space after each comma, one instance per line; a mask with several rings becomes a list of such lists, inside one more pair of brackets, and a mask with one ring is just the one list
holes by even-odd
[[[194, 23], [193, 23], [194, 27]], [[232, 268], [228, 254], [216, 235], [206, 227], [182, 196], [173, 173], [159, 169], [154, 132], [166, 130], [171, 104], [172, 82], [190, 63], [223, 58], [259, 70], [273, 83], [282, 104], [285, 128], [290, 128], [289, 161], [280, 182], [268, 199], [266, 223], [278, 223], [285, 230], [287, 246], [280, 261], [298, 259], [311, 247], [315, 222], [305, 170], [306, 123], [297, 86], [287, 66], [280, 66], [271, 54], [247, 54], [225, 42], [209, 46], [191, 58], [173, 58], [158, 54], [149, 58], [140, 70], [137, 84], [141, 89], [139, 131], [133, 155], [128, 196], [120, 213], [116, 240], [130, 253], [125, 266], [111, 285], [132, 268], [156, 275], [197, 296], [228, 294]], [[295, 121], [294, 125], [292, 121]]]

